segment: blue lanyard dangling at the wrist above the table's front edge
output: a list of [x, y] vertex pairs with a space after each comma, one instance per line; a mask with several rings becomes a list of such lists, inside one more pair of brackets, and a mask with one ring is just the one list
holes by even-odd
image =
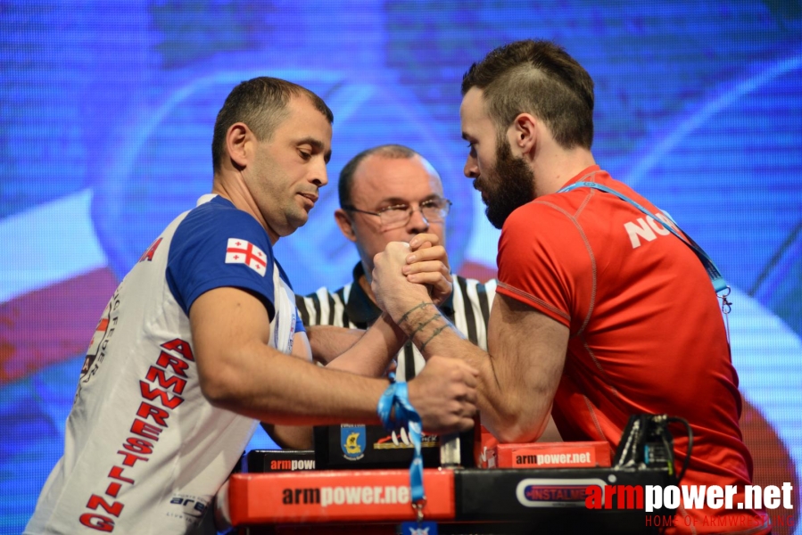
[[[395, 407], [395, 421], [391, 422], [390, 413], [393, 407]], [[409, 426], [409, 440], [415, 448], [412, 464], [409, 465], [409, 488], [412, 492], [413, 506], [422, 507], [426, 502], [426, 494], [423, 489], [423, 456], [420, 452], [421, 423], [418, 411], [409, 403], [407, 383], [391, 383], [379, 398], [376, 412], [387, 431]]]

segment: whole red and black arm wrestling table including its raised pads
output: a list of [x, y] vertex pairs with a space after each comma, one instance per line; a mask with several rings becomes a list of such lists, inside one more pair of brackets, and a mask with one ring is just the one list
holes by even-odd
[[[679, 477], [674, 474], [673, 438], [667, 428], [670, 420], [665, 415], [631, 416], [612, 467], [604, 442], [498, 444], [478, 428], [473, 435], [465, 435], [467, 440], [445, 437], [439, 443], [439, 459], [424, 454], [424, 524], [414, 522], [418, 518], [411, 503], [409, 470], [376, 469], [379, 458], [383, 462], [391, 458], [382, 446], [389, 445], [387, 441], [376, 439], [379, 435], [368, 440], [369, 428], [364, 432], [367, 438], [361, 441], [350, 440], [355, 434], [352, 426], [332, 428], [332, 432], [316, 428], [315, 451], [278, 453], [285, 458], [311, 454], [317, 465], [301, 462], [297, 465], [303, 467], [301, 472], [233, 474], [218, 495], [218, 516], [234, 526], [237, 535], [394, 535], [401, 534], [402, 525], [403, 535], [434, 535], [435, 530], [495, 535], [657, 533], [674, 517], [675, 510], [664, 507], [647, 513], [644, 490], [647, 485], [665, 488], [676, 484], [685, 470], [683, 467]], [[477, 434], [481, 435], [478, 440]], [[348, 461], [343, 464], [337, 458], [340, 442], [348, 446], [351, 441], [360, 442], [358, 459], [369, 463], [366, 468], [353, 470]], [[371, 454], [377, 455], [368, 447], [373, 442], [382, 457], [371, 460]], [[402, 446], [400, 442], [398, 448]], [[488, 451], [486, 446], [492, 447], [492, 464], [480, 462]], [[692, 439], [686, 465], [691, 448]], [[481, 455], [480, 449], [484, 449]], [[342, 452], [349, 457], [349, 448]], [[546, 453], [551, 455], [539, 455]], [[270, 469], [265, 462], [268, 457], [249, 454], [248, 458], [252, 470]], [[426, 465], [427, 459], [429, 463], [439, 460], [439, 464]], [[402, 465], [409, 466], [410, 460], [411, 452]], [[442, 467], [483, 464], [499, 467]], [[279, 468], [286, 469], [286, 465], [287, 461], [278, 461]], [[330, 469], [343, 465], [348, 469]], [[438, 465], [441, 467], [434, 467]], [[564, 467], [543, 467], [547, 465]], [[327, 470], [307, 471], [313, 466]], [[600, 491], [596, 503], [603, 506], [586, 506], [589, 488], [597, 498]], [[427, 522], [436, 527], [428, 525], [427, 530]]]

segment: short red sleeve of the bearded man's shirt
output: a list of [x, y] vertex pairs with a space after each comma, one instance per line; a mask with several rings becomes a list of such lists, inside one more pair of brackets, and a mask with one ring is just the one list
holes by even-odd
[[576, 333], [595, 287], [590, 243], [567, 211], [531, 202], [501, 229], [497, 292], [519, 300]]

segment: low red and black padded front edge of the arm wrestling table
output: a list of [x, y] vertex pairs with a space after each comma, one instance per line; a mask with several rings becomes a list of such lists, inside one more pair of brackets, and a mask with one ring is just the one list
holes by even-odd
[[[423, 513], [439, 533], [656, 533], [647, 516], [674, 511], [588, 509], [586, 489], [668, 484], [656, 468], [430, 468]], [[406, 470], [236, 473], [219, 508], [238, 535], [395, 534], [416, 519]]]

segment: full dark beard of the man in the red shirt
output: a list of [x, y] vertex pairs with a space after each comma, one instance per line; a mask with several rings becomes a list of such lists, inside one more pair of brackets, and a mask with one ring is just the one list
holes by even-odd
[[513, 211], [534, 200], [534, 173], [523, 158], [516, 158], [503, 137], [496, 141], [496, 164], [474, 181], [482, 192], [484, 210], [492, 226], [501, 228]]

